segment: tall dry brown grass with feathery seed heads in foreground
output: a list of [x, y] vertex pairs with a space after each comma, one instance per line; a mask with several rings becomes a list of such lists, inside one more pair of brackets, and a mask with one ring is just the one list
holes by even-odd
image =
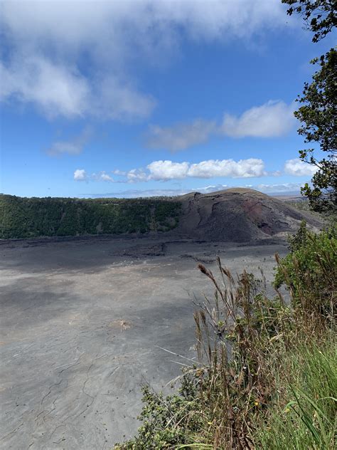
[[214, 300], [206, 298], [195, 313], [200, 409], [212, 424], [205, 437], [214, 448], [250, 449], [252, 423], [276, 389], [269, 366], [289, 345], [289, 311], [251, 274], [235, 281], [220, 259], [220, 280], [199, 268], [215, 287]]

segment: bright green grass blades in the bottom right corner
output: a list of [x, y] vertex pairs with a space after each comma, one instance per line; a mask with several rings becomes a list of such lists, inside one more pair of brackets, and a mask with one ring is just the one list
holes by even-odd
[[284, 398], [254, 433], [257, 448], [336, 449], [337, 354], [333, 344], [301, 347], [287, 357], [290, 380]]

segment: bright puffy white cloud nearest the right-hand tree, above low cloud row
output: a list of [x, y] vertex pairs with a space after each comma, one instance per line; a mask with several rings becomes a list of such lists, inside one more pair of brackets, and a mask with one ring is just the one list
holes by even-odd
[[230, 137], [276, 137], [287, 134], [294, 126], [294, 103], [269, 100], [242, 115], [225, 114], [221, 130]]

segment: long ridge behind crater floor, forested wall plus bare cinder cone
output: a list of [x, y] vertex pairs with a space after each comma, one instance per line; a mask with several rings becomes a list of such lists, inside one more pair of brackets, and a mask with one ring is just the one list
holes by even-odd
[[210, 241], [248, 242], [296, 231], [318, 217], [252, 189], [147, 199], [0, 196], [0, 238], [172, 231]]

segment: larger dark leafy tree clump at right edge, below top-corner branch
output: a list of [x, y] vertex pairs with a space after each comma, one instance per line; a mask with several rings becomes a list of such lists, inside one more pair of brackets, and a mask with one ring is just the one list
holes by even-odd
[[325, 55], [311, 61], [320, 69], [311, 84], [304, 84], [303, 95], [297, 101], [301, 107], [294, 115], [302, 123], [298, 132], [307, 144], [319, 144], [326, 153], [323, 159], [314, 157], [314, 149], [301, 150], [299, 157], [316, 167], [311, 179], [301, 188], [311, 209], [337, 214], [337, 51], [331, 48]]

